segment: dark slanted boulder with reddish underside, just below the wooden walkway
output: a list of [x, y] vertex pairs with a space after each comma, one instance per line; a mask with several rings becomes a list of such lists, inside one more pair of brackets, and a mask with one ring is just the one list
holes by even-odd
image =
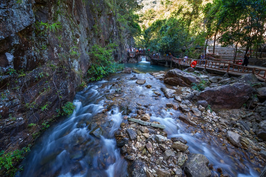
[[172, 86], [190, 87], [192, 83], [199, 83], [199, 78], [183, 72], [180, 69], [172, 69], [166, 73], [164, 83]]

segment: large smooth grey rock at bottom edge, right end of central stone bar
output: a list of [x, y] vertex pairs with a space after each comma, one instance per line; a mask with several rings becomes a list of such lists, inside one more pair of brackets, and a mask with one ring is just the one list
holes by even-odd
[[208, 163], [208, 159], [202, 154], [189, 154], [184, 165], [185, 174], [188, 177], [210, 177]]

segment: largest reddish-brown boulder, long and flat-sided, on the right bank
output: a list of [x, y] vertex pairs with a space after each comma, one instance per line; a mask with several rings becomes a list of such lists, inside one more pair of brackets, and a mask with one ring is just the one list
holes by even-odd
[[253, 92], [251, 86], [242, 83], [206, 88], [199, 92], [196, 100], [206, 100], [213, 110], [239, 109]]

